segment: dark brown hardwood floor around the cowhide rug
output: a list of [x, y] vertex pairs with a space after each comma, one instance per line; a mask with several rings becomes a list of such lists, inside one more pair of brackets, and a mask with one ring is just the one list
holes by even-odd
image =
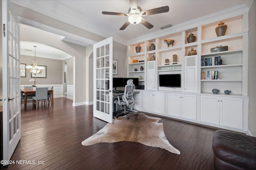
[[[31, 164], [15, 163], [1, 169], [212, 170], [212, 136], [216, 129], [161, 118], [168, 141], [180, 150], [180, 155], [126, 141], [83, 146], [84, 139], [106, 125], [93, 117], [92, 105], [75, 107], [66, 98], [55, 98], [53, 107], [40, 104], [39, 109], [29, 103], [24, 110], [22, 104], [22, 136], [11, 160], [31, 161]], [[122, 133], [122, 129], [117, 130]]]

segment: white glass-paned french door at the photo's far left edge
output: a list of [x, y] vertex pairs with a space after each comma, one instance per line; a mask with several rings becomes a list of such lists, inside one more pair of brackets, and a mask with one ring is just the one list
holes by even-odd
[[[10, 160], [20, 140], [20, 25], [10, 0], [2, 4], [3, 160]], [[7, 165], [4, 162], [3, 165]]]

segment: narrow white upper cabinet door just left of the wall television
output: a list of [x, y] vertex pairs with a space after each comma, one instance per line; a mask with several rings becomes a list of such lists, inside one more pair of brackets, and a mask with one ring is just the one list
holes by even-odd
[[147, 90], [156, 90], [155, 61], [148, 61], [147, 64]]

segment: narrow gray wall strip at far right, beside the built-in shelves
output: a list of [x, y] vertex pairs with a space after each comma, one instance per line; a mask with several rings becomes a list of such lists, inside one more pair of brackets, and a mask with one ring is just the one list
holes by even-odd
[[256, 2], [249, 11], [249, 47], [248, 47], [248, 96], [249, 96], [249, 131], [256, 137]]

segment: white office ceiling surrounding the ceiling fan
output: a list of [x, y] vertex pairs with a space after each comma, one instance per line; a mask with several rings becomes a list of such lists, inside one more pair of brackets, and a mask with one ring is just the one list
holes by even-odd
[[103, 15], [102, 11], [128, 13], [129, 0], [12, 0], [12, 2], [102, 37], [113, 36], [114, 41], [126, 45], [128, 40], [152, 34], [164, 25], [178, 25], [243, 4], [250, 8], [253, 0], [138, 0], [138, 6], [142, 10], [166, 5], [170, 10], [167, 13], [144, 17], [154, 25], [152, 29], [147, 29], [139, 23], [130, 24], [125, 30], [119, 28], [128, 20], [127, 16]]

